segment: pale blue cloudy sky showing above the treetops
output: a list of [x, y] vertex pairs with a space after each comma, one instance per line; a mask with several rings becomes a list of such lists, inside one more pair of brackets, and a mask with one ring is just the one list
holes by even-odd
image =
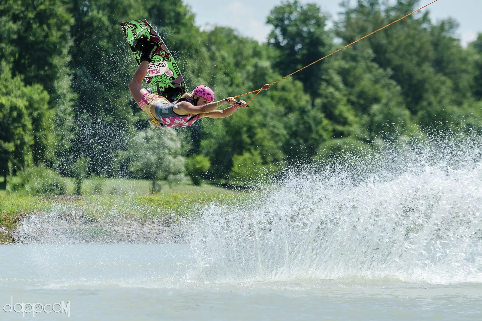
[[[432, 0], [420, 0], [418, 7], [422, 7]], [[183, 0], [196, 14], [196, 25], [207, 29], [213, 26], [232, 27], [242, 36], [266, 41], [270, 27], [266, 24], [266, 17], [270, 10], [281, 3], [281, 0]], [[341, 11], [339, 0], [300, 0], [302, 3], [317, 3], [321, 10], [330, 13], [337, 19]], [[355, 3], [355, 0], [351, 0]], [[418, 8], [417, 7], [417, 8]], [[449, 17], [459, 23], [457, 37], [462, 45], [477, 39], [482, 33], [482, 0], [438, 0], [428, 6], [432, 21], [439, 21]]]

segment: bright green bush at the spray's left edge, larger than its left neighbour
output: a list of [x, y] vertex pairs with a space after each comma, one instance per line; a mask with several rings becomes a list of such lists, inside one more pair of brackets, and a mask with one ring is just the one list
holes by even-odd
[[265, 183], [276, 174], [276, 166], [263, 164], [258, 151], [244, 152], [233, 156], [233, 168], [229, 179], [234, 184], [253, 186]]

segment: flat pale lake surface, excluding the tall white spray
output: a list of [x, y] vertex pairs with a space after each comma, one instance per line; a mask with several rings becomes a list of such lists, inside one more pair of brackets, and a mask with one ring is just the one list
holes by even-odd
[[[194, 263], [187, 244], [2, 246], [0, 305], [11, 296], [70, 301], [70, 318], [40, 312], [34, 320], [482, 320], [477, 282], [208, 282], [188, 277]], [[0, 311], [0, 320], [21, 319]]]

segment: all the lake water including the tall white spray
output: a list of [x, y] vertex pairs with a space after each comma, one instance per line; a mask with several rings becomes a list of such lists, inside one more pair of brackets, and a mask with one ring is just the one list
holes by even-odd
[[181, 244], [0, 246], [0, 307], [70, 301], [71, 320], [103, 321], [482, 320], [480, 146], [299, 168], [243, 204], [204, 208]]

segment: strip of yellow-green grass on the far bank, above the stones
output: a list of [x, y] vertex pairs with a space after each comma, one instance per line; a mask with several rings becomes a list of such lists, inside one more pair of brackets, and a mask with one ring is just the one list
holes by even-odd
[[143, 180], [108, 179], [100, 194], [92, 193], [94, 181], [84, 182], [84, 195], [73, 195], [74, 184], [67, 179], [67, 194], [31, 196], [26, 192], [0, 191], [0, 225], [14, 229], [25, 214], [55, 211], [59, 214], [80, 213], [85, 216], [129, 216], [153, 218], [166, 223], [200, 213], [210, 204], [242, 202], [247, 192], [202, 185], [163, 185], [160, 193], [149, 193], [149, 182]]

